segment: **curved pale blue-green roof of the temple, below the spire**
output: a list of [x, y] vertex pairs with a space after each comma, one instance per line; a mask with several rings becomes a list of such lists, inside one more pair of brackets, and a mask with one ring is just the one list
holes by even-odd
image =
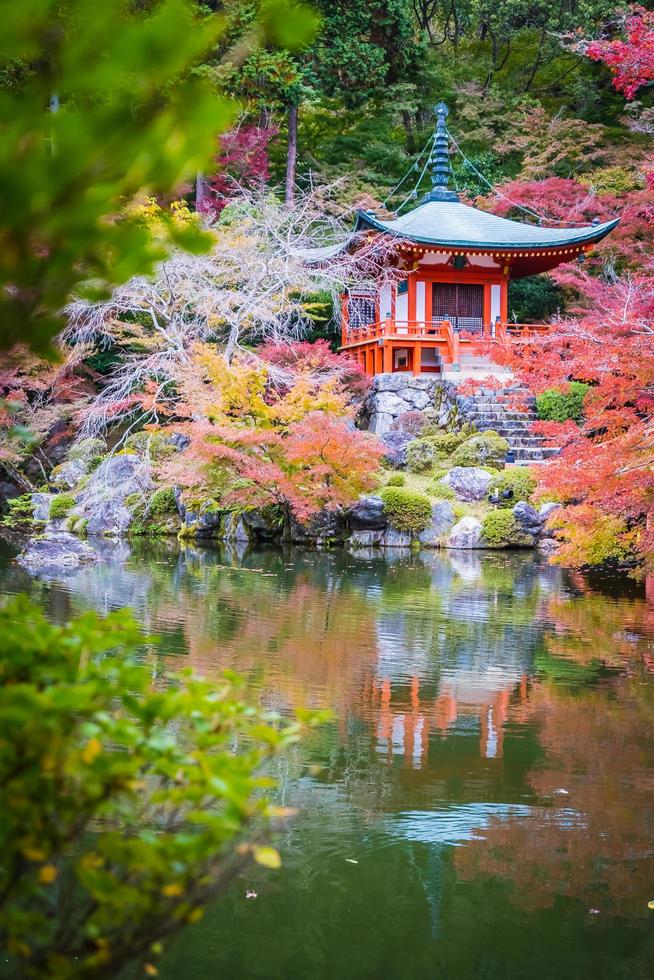
[[506, 251], [550, 249], [599, 242], [619, 218], [581, 228], [543, 228], [500, 218], [460, 201], [425, 201], [413, 211], [384, 221], [368, 211], [357, 212], [357, 231], [374, 228], [398, 238], [444, 249]]

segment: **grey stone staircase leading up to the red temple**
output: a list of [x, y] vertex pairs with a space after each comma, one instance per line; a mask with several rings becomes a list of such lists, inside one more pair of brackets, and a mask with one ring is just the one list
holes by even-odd
[[[513, 407], [517, 397], [525, 404], [524, 410]], [[506, 439], [518, 465], [544, 463], [559, 452], [555, 447], [546, 446], [542, 436], [530, 431], [531, 424], [536, 421], [536, 406], [535, 398], [528, 395], [526, 389], [518, 385], [501, 389], [480, 388], [474, 395], [460, 396], [457, 401], [462, 414], [469, 422], [474, 422], [479, 432], [494, 429]]]

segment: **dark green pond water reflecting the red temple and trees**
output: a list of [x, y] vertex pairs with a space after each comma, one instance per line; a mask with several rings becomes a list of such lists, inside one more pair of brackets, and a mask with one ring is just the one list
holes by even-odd
[[55, 619], [130, 605], [158, 659], [335, 712], [278, 766], [283, 869], [240, 880], [165, 980], [654, 976], [643, 585], [519, 554], [107, 548], [0, 589]]

